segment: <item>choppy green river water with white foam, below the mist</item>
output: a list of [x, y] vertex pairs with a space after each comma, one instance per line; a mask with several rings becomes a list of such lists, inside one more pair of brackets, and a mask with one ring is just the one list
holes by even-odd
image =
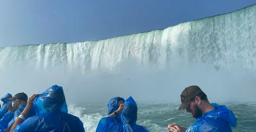
[[[233, 132], [254, 132], [256, 130], [255, 103], [254, 106], [252, 106], [252, 103], [224, 104], [229, 104], [227, 107], [234, 111], [236, 118], [238, 118], [237, 127], [232, 128]], [[179, 104], [138, 104], [138, 106], [137, 124], [147, 127], [151, 132], [168, 132], [167, 125], [170, 123], [188, 127], [195, 122], [195, 118], [190, 113], [178, 110]], [[95, 132], [99, 120], [107, 115], [107, 107], [106, 105], [99, 105], [85, 109], [70, 105], [69, 113], [78, 116], [84, 122], [87, 132]]]

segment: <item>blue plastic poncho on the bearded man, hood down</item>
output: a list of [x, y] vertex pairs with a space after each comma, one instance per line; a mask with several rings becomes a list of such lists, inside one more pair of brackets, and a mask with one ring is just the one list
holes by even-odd
[[236, 127], [237, 119], [226, 106], [212, 104], [215, 108], [197, 117], [186, 132], [232, 132], [231, 126]]

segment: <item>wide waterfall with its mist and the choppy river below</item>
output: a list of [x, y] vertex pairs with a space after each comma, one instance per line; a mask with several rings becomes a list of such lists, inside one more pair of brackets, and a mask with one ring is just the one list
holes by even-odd
[[199, 85], [210, 102], [233, 103], [230, 108], [241, 119], [234, 131], [246, 125], [255, 130], [255, 21], [252, 5], [106, 40], [0, 48], [1, 93], [32, 95], [62, 86], [69, 112], [81, 118], [87, 131], [95, 131], [106, 116], [111, 97], [131, 95], [139, 105], [138, 123], [166, 131], [168, 123], [189, 126], [194, 121], [177, 111], [177, 103], [185, 87]]

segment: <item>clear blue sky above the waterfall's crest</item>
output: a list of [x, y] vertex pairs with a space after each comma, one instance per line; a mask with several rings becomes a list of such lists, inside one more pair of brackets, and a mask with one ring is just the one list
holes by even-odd
[[256, 0], [1, 0], [0, 47], [112, 38], [228, 13]]

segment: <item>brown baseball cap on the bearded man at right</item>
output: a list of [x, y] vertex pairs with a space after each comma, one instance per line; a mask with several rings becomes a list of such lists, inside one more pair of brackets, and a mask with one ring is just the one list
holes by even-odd
[[203, 93], [203, 91], [198, 86], [189, 86], [185, 88], [180, 95], [182, 104], [180, 105], [179, 110], [186, 109], [190, 101], [201, 93]]

